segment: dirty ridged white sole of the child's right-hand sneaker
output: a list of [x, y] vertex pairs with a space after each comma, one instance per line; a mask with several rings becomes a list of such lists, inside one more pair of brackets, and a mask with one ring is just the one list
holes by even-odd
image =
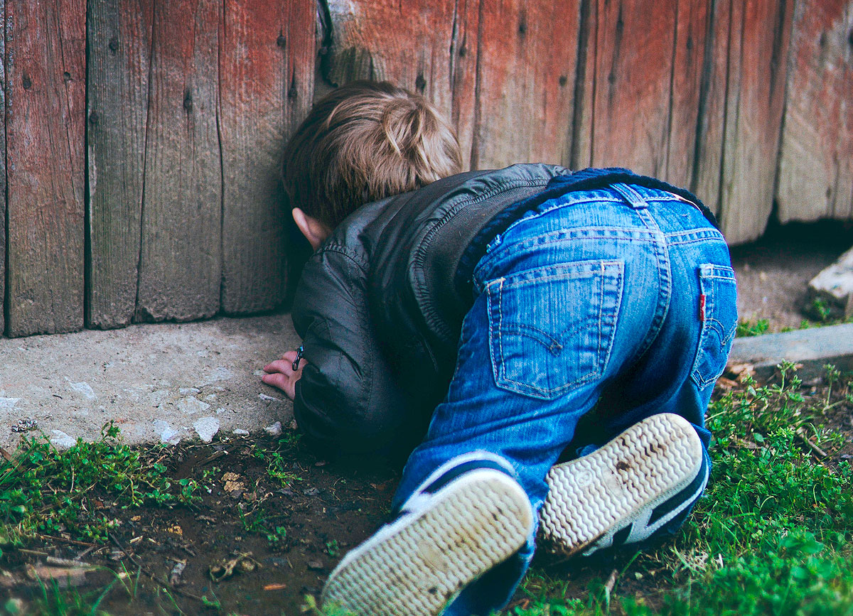
[[[540, 538], [565, 556], [588, 555], [600, 539], [607, 547], [615, 532], [645, 524], [655, 507], [697, 479], [701, 467], [702, 444], [687, 420], [670, 413], [648, 417], [589, 456], [551, 468]], [[703, 487], [678, 504], [686, 506]]]

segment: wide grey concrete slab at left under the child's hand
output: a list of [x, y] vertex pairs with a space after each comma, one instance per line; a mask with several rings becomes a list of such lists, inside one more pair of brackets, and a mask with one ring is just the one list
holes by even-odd
[[58, 446], [212, 438], [287, 424], [293, 406], [261, 369], [299, 346], [289, 315], [0, 340], [0, 445], [35, 423]]

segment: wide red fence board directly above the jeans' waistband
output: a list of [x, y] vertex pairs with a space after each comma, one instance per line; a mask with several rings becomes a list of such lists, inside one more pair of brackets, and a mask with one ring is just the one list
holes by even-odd
[[677, 3], [661, 3], [649, 19], [645, 0], [594, 2], [584, 88], [592, 94], [579, 129], [589, 133], [580, 137], [589, 154], [577, 162], [663, 176]]

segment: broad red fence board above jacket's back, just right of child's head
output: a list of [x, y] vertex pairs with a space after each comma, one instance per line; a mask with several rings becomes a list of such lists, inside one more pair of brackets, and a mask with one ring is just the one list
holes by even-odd
[[568, 163], [579, 0], [481, 0], [471, 165]]

